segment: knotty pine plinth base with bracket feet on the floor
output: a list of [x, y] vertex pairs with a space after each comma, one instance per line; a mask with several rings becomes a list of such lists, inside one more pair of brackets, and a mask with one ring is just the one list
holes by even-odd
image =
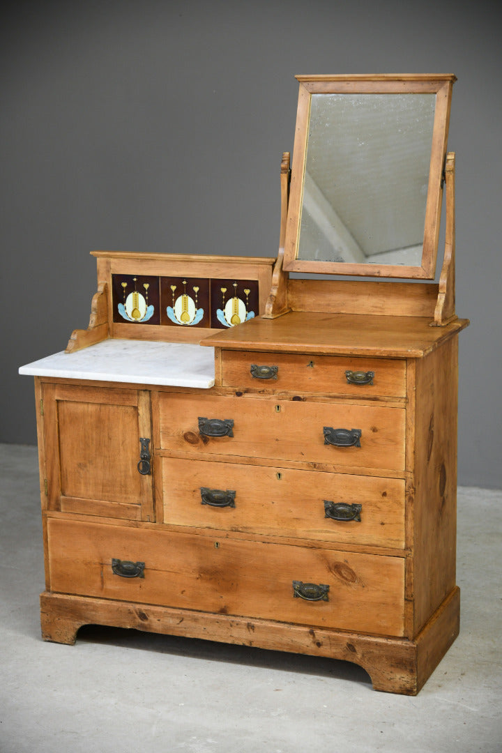
[[336, 632], [271, 620], [246, 619], [85, 596], [41, 594], [46, 641], [75, 643], [83, 625], [134, 628], [147, 633], [330, 657], [357, 664], [376, 691], [416, 695], [458, 636], [460, 590], [455, 588], [413, 641]]

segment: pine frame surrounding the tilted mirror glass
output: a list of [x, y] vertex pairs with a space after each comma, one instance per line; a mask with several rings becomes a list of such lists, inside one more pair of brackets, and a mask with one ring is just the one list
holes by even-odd
[[[315, 75], [296, 76], [300, 81], [288, 221], [284, 245], [284, 270], [288, 272], [336, 274], [402, 279], [434, 279], [440, 233], [443, 175], [448, 142], [449, 114], [455, 75]], [[434, 93], [434, 128], [431, 166], [425, 209], [421, 267], [395, 264], [353, 264], [339, 261], [310, 261], [297, 258], [306, 167], [307, 136], [312, 94]]]

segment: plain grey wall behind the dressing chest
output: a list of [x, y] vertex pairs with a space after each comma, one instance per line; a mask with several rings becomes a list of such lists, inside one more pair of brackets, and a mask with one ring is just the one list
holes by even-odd
[[17, 367], [85, 328], [96, 248], [275, 256], [297, 73], [449, 73], [458, 156], [459, 482], [502, 487], [498, 2], [13, 2], [2, 59], [0, 441]]

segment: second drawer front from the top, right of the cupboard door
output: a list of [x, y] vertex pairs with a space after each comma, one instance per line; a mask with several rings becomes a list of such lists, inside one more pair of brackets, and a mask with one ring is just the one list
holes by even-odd
[[[184, 393], [161, 394], [159, 407], [164, 450], [404, 469], [404, 408]], [[209, 419], [216, 434], [228, 431], [208, 436], [199, 419]], [[355, 429], [361, 437], [353, 446], [336, 447], [327, 444], [324, 428]]]

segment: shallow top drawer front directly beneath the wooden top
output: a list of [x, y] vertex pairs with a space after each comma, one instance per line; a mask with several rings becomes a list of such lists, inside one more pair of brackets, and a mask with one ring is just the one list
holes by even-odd
[[222, 374], [225, 387], [363, 398], [406, 395], [406, 362], [388, 358], [224, 350]]

